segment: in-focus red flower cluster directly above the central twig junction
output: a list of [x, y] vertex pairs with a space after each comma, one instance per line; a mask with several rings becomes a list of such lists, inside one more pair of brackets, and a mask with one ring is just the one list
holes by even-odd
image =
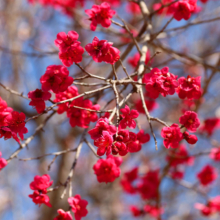
[[107, 40], [99, 40], [94, 37], [92, 43], [87, 44], [85, 49], [95, 62], [114, 64], [120, 58], [120, 51], [112, 45], [113, 43]]

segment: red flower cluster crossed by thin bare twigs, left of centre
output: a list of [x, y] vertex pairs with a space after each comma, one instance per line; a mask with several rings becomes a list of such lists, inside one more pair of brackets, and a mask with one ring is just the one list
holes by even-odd
[[[60, 102], [76, 97], [78, 95], [78, 89], [75, 86], [70, 86], [65, 92], [60, 92], [56, 94], [56, 99], [54, 100], [54, 102]], [[93, 105], [92, 102], [88, 99], [84, 100], [83, 98], [78, 98], [76, 100], [73, 100], [72, 102], [59, 104], [57, 113], [62, 114], [66, 112], [67, 117], [70, 118], [70, 125], [72, 127], [79, 126], [82, 128], [87, 128], [90, 122], [95, 122], [98, 120], [96, 112], [89, 111], [89, 109], [99, 110], [99, 105]]]

